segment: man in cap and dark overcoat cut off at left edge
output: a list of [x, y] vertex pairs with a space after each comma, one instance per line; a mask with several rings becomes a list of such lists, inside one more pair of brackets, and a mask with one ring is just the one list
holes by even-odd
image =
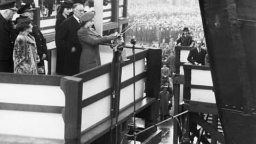
[[11, 20], [18, 9], [15, 1], [0, 3], [0, 72], [13, 73], [13, 47], [17, 37]]

